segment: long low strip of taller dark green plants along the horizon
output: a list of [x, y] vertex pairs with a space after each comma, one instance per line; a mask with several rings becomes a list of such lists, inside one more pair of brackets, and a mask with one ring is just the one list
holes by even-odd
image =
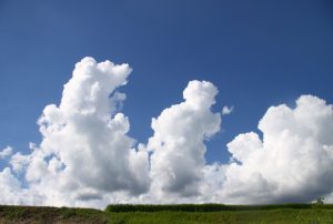
[[312, 204], [270, 204], [270, 205], [224, 205], [224, 204], [173, 204], [173, 205], [147, 205], [147, 204], [111, 204], [107, 212], [221, 212], [221, 211], [256, 211], [279, 208], [312, 208]]

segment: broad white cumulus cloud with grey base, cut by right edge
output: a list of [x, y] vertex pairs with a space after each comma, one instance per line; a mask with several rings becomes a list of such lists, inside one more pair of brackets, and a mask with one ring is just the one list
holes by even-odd
[[238, 135], [221, 197], [229, 203], [309, 202], [333, 190], [332, 105], [302, 95], [294, 109], [271, 106], [259, 123], [263, 139]]

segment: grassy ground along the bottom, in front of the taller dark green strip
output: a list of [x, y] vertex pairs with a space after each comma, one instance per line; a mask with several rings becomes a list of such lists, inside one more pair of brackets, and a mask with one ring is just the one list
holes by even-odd
[[[241, 207], [239, 211], [219, 212], [110, 212], [90, 208], [0, 206], [0, 223], [333, 223], [332, 205], [307, 208], [283, 205], [269, 208]], [[249, 210], [245, 210], [246, 207]]]

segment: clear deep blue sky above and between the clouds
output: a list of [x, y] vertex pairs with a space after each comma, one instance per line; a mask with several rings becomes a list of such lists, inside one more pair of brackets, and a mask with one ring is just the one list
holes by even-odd
[[214, 111], [234, 112], [206, 160], [225, 162], [225, 144], [255, 131], [269, 106], [304, 93], [333, 101], [332, 10], [329, 0], [0, 0], [0, 147], [40, 142], [37, 119], [91, 55], [133, 68], [123, 112], [143, 143], [151, 118], [181, 102], [190, 80], [214, 83]]

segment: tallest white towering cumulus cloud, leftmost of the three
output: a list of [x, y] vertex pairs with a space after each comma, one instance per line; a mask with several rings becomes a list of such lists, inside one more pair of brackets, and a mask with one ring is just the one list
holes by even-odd
[[84, 205], [110, 192], [137, 195], [148, 190], [148, 154], [132, 149], [129, 120], [117, 112], [125, 95], [114, 90], [130, 72], [128, 64], [84, 58], [64, 85], [60, 105], [46, 106], [38, 121], [41, 144], [11, 160], [41, 203]]

